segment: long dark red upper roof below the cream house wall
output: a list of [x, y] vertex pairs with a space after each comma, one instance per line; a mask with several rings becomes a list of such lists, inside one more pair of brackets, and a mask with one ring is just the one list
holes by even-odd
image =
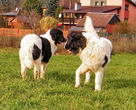
[[96, 7], [96, 6], [81, 6], [79, 10], [74, 10], [74, 9], [66, 9], [63, 10], [62, 13], [87, 13], [87, 12], [109, 12], [113, 10], [120, 9], [120, 6], [101, 6], [101, 7]]

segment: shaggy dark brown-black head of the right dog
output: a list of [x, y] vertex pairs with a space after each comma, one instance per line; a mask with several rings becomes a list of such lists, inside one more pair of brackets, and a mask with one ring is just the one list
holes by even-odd
[[68, 35], [68, 40], [65, 45], [65, 49], [70, 50], [74, 54], [79, 53], [79, 49], [86, 47], [86, 38], [81, 32], [71, 32]]

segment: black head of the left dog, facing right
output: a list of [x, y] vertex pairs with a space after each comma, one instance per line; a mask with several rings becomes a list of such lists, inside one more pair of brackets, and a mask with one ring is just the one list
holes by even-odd
[[66, 42], [66, 39], [63, 36], [63, 32], [57, 28], [51, 29], [50, 31], [52, 39], [55, 41], [55, 45], [62, 42]]

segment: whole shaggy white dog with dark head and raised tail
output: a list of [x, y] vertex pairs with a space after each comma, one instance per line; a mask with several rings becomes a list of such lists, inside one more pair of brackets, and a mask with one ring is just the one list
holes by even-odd
[[75, 87], [80, 86], [80, 75], [86, 73], [85, 83], [90, 81], [90, 72], [95, 73], [95, 90], [101, 90], [105, 67], [110, 61], [112, 44], [99, 37], [93, 27], [92, 20], [87, 16], [85, 32], [71, 32], [65, 48], [74, 54], [79, 53], [82, 64], [76, 70]]

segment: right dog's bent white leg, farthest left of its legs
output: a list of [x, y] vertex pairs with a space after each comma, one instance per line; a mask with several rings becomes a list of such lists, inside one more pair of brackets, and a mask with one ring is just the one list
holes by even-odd
[[75, 87], [80, 86], [80, 74], [83, 74], [88, 71], [88, 68], [84, 65], [81, 64], [80, 67], [76, 70], [76, 84]]

